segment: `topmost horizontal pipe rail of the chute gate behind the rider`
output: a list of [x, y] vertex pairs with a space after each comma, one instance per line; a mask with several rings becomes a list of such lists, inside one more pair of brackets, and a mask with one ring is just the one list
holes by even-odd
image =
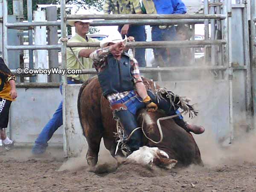
[[226, 15], [214, 14], [113, 14], [113, 15], [67, 15], [67, 20], [72, 19], [220, 19], [226, 18]]

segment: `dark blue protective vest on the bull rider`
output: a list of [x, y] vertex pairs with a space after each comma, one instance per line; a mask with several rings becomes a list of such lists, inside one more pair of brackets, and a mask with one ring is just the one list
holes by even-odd
[[107, 96], [111, 93], [134, 90], [129, 56], [124, 53], [118, 61], [111, 54], [106, 59], [105, 68], [98, 73], [99, 84], [101, 85], [103, 95]]

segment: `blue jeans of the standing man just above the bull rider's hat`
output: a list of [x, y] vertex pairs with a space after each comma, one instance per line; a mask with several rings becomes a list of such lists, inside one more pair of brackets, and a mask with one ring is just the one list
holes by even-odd
[[[121, 29], [122, 26], [119, 26], [118, 31], [121, 32]], [[135, 41], [146, 41], [145, 26], [130, 25], [127, 37], [129, 36], [134, 37]], [[134, 58], [138, 61], [139, 67], [146, 67], [145, 48], [136, 48]]]

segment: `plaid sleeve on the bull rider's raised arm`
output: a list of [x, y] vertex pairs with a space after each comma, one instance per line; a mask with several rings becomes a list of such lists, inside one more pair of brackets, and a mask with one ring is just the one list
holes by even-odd
[[90, 58], [93, 60], [93, 66], [99, 72], [99, 69], [105, 63], [105, 58], [110, 52], [110, 47], [105, 47], [103, 49], [97, 49], [90, 54]]

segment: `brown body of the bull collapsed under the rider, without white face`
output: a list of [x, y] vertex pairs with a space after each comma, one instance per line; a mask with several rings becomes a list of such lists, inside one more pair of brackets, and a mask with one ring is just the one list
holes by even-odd
[[[154, 90], [153, 82], [147, 79], [143, 80], [146, 87]], [[88, 80], [82, 85], [78, 96], [79, 119], [83, 128], [84, 135], [88, 143], [88, 151], [86, 155], [87, 163], [95, 166], [98, 161], [98, 153], [100, 141], [103, 137], [105, 147], [114, 157], [116, 149], [116, 121], [113, 119], [109, 102], [102, 96], [102, 90], [97, 78]], [[157, 119], [164, 116], [163, 113], [157, 111], [148, 113], [153, 119], [153, 125], [145, 125], [144, 130], [148, 137], [157, 141], [159, 133], [157, 128]], [[142, 124], [143, 118], [140, 116], [138, 122]], [[191, 163], [202, 164], [200, 151], [192, 135], [180, 128], [172, 119], [160, 122], [163, 130], [163, 141], [159, 144], [152, 143], [145, 139], [145, 145], [149, 147], [158, 147], [165, 151], [170, 159], [178, 161], [177, 165], [187, 166]], [[117, 155], [121, 155], [118, 151]]]

